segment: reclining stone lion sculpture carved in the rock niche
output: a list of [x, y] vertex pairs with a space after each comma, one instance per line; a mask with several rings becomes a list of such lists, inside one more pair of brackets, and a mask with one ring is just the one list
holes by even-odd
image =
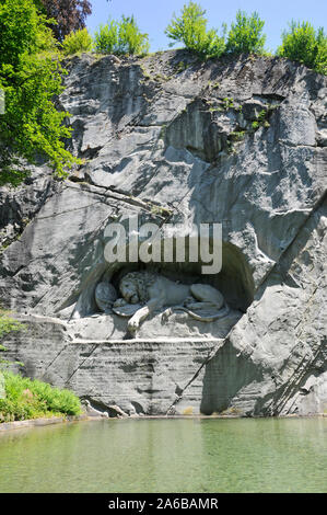
[[[131, 317], [128, 329], [135, 333], [140, 323], [162, 308], [167, 318], [173, 310], [183, 310], [196, 320], [212, 322], [229, 312], [222, 294], [210, 285], [185, 285], [149, 272], [131, 272], [119, 284], [122, 298], [113, 305], [113, 311]], [[223, 309], [222, 309], [223, 308]]]

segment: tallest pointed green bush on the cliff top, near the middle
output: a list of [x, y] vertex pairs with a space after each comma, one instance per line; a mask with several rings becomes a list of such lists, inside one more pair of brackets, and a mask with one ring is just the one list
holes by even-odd
[[224, 36], [220, 37], [214, 28], [207, 31], [208, 20], [205, 14], [206, 11], [199, 4], [189, 2], [184, 5], [179, 18], [174, 14], [165, 34], [201, 57], [219, 57], [225, 49]]

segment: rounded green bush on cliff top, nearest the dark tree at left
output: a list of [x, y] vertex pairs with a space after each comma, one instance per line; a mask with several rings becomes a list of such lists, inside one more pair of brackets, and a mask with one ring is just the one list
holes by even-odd
[[95, 50], [100, 54], [144, 55], [149, 52], [148, 34], [142, 34], [133, 16], [121, 16], [100, 25], [95, 33]]

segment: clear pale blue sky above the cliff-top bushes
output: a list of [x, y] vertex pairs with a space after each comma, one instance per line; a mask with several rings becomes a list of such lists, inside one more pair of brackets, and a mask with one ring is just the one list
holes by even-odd
[[[100, 23], [109, 16], [119, 19], [121, 14], [135, 14], [139, 27], [149, 34], [151, 52], [167, 49], [170, 41], [164, 30], [174, 12], [188, 0], [91, 0], [93, 13], [86, 20], [87, 28], [94, 33]], [[209, 26], [220, 28], [222, 22], [229, 25], [235, 19], [237, 9], [248, 13], [257, 11], [266, 21], [266, 47], [276, 50], [280, 44], [280, 35], [292, 19], [308, 21], [314, 26], [325, 26], [327, 21], [327, 0], [199, 0], [207, 10]]]

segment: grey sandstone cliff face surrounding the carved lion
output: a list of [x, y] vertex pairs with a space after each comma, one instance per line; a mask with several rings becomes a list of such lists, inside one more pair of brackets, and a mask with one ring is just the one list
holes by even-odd
[[[60, 102], [84, 165], [61, 182], [40, 165], [0, 192], [1, 302], [28, 328], [8, 336], [9, 355], [104, 411], [324, 412], [326, 78], [186, 52], [67, 66]], [[108, 224], [131, 216], [161, 231], [222, 225], [219, 274], [187, 252], [156, 268], [218, 288], [226, 318], [153, 313], [130, 340], [127, 320], [101, 312], [108, 282], [149, 267], [105, 259]]]

